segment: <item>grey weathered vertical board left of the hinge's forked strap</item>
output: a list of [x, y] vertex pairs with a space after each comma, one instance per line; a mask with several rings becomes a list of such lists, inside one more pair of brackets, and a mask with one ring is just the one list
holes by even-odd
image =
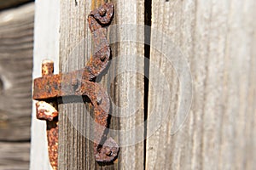
[[[91, 39], [87, 22], [90, 1], [61, 1], [61, 72], [84, 68], [90, 59]], [[90, 108], [80, 102], [59, 105], [59, 169], [95, 169], [90, 134]]]

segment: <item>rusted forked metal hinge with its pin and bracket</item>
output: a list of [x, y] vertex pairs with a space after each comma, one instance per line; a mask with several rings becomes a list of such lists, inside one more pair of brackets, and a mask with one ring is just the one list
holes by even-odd
[[104, 3], [88, 15], [96, 53], [92, 55], [84, 69], [54, 75], [54, 63], [44, 60], [42, 77], [34, 79], [33, 99], [39, 100], [36, 104], [38, 119], [47, 122], [49, 161], [53, 169], [58, 168], [57, 98], [59, 97], [88, 96], [94, 106], [95, 122], [99, 124], [94, 127], [96, 161], [109, 162], [118, 156], [119, 145], [112, 138], [106, 139], [105, 134], [110, 108], [108, 94], [99, 83], [93, 81], [108, 65], [110, 47], [106, 26], [112, 18], [113, 3]]

